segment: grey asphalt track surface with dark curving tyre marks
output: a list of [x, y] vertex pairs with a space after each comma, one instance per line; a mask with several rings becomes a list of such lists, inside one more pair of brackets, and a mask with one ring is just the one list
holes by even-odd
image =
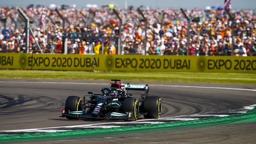
[[[163, 87], [163, 85], [169, 86]], [[184, 87], [184, 85], [192, 87]], [[67, 120], [59, 118], [60, 110], [64, 107], [68, 95], [82, 96], [87, 94], [87, 91], [100, 92], [100, 88], [108, 86], [108, 81], [0, 79], [0, 130], [111, 122], [111, 120]], [[255, 91], [241, 90], [256, 89], [256, 85], [163, 82], [151, 83], [149, 87], [151, 95], [161, 95], [162, 117], [235, 110], [256, 104]], [[212, 87], [233, 89], [216, 89]], [[139, 95], [142, 93], [134, 92], [134, 94]], [[140, 134], [91, 137], [89, 139], [47, 140], [46, 142], [38, 141], [37, 143], [101, 143], [103, 141], [107, 143], [254, 143], [256, 140], [255, 129], [256, 123], [251, 122]]]

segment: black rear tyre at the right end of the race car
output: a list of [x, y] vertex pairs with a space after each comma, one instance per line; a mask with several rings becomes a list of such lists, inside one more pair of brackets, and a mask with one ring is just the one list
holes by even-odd
[[162, 104], [161, 98], [148, 96], [143, 103], [144, 117], [146, 119], [157, 119], [161, 117]]

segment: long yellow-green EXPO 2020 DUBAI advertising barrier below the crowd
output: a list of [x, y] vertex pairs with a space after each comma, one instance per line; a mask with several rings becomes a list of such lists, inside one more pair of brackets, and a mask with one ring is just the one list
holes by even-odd
[[256, 73], [256, 57], [0, 53], [0, 69]]

